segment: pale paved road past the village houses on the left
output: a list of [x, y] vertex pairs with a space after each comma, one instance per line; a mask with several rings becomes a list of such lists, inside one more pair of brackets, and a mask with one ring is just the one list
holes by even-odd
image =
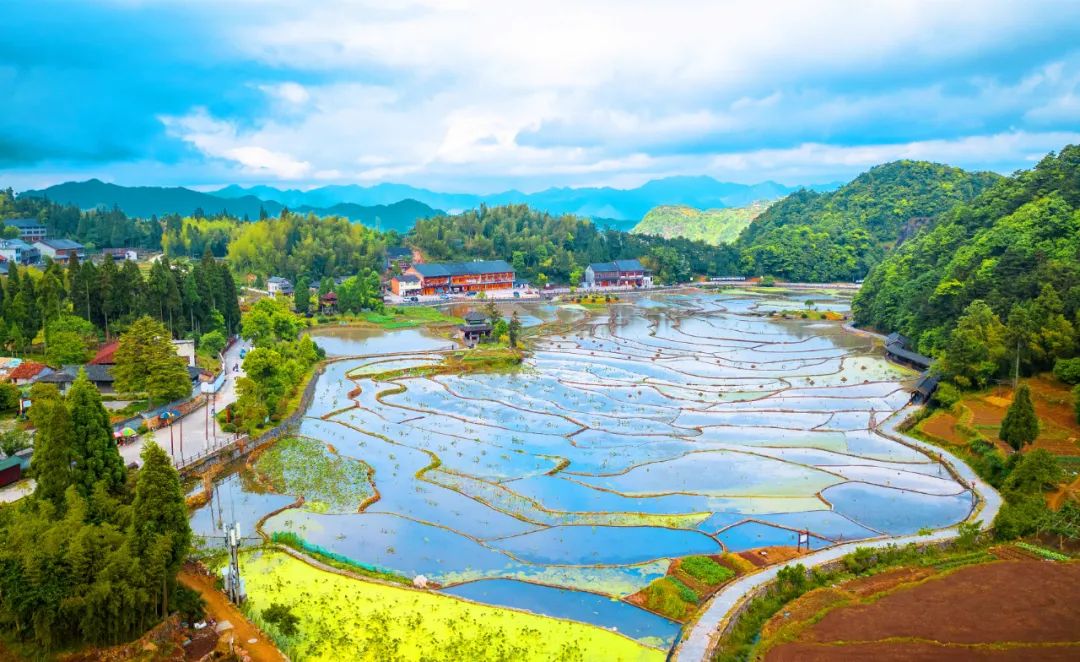
[[[120, 455], [124, 458], [124, 463], [139, 461], [139, 454], [143, 451], [143, 444], [146, 437], [153, 438], [166, 452], [172, 450], [175, 460], [179, 460], [181, 455], [183, 457], [191, 457], [202, 454], [210, 448], [224, 446], [232, 441], [235, 435], [221, 432], [220, 427], [215, 425], [213, 414], [207, 411], [207, 408], [220, 411], [222, 407], [237, 398], [237, 378], [244, 375], [240, 360], [240, 350], [245, 347], [247, 347], [246, 343], [239, 341], [226, 351], [225, 366], [228, 374], [225, 378], [225, 384], [217, 392], [216, 396], [210, 396], [207, 405], [194, 409], [172, 425], [159, 428], [150, 434], [140, 436], [132, 444], [121, 446]], [[233, 365], [239, 365], [240, 370], [233, 373]]]

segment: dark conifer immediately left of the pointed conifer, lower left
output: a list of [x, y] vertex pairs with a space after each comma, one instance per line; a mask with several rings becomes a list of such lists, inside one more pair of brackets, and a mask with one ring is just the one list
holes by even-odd
[[75, 461], [75, 429], [71, 416], [53, 384], [37, 383], [30, 389], [30, 420], [37, 428], [30, 473], [37, 482], [36, 498], [50, 501], [59, 510], [64, 492], [71, 486]]

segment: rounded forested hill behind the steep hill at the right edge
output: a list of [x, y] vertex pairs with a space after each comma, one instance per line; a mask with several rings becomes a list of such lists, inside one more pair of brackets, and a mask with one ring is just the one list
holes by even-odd
[[899, 239], [998, 179], [993, 173], [895, 161], [831, 193], [793, 193], [740, 235], [743, 270], [794, 281], [861, 279]]

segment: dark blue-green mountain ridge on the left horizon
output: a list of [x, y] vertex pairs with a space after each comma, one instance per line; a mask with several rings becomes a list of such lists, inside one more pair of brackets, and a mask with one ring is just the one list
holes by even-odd
[[[118, 186], [98, 179], [68, 181], [42, 190], [19, 193], [19, 198], [45, 198], [60, 205], [73, 205], [80, 210], [117, 207], [127, 216], [150, 218], [179, 214], [181, 216], [216, 216], [227, 213], [237, 218], [255, 220], [261, 216], [278, 216], [284, 208], [280, 202], [260, 200], [254, 195], [240, 198], [218, 198], [211, 193], [193, 191], [183, 187]], [[442, 214], [422, 202], [401, 200], [391, 204], [359, 205], [336, 204], [329, 208], [301, 205], [291, 210], [315, 216], [343, 216], [368, 227], [381, 230], [407, 232], [417, 218]]]

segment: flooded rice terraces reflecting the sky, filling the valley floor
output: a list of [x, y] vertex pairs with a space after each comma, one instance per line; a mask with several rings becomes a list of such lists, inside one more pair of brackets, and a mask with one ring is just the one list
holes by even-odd
[[[735, 292], [595, 313], [536, 307], [537, 322], [562, 323], [521, 371], [386, 382], [372, 376], [436, 362], [426, 352], [448, 341], [336, 336], [334, 354], [395, 355], [329, 364], [299, 434], [363, 463], [370, 484], [330, 499], [302, 472], [282, 495], [234, 474], [216, 503], [248, 532], [261, 519], [267, 536], [422, 575], [447, 594], [666, 648], [679, 624], [618, 598], [672, 558], [795, 545], [801, 529], [812, 549], [913, 533], [971, 509], [942, 467], [873, 430], [908, 402], [914, 374], [837, 323], [754, 314], [785, 307], [802, 301]], [[193, 515], [197, 533], [215, 535], [212, 508]]]

